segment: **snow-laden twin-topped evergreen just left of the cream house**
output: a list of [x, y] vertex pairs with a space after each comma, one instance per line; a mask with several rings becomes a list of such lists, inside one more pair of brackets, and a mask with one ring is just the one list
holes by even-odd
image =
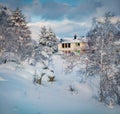
[[41, 28], [40, 38], [35, 42], [33, 47], [32, 58], [36, 62], [43, 62], [46, 65], [51, 61], [51, 56], [57, 51], [58, 39], [51, 28], [47, 29], [45, 26]]

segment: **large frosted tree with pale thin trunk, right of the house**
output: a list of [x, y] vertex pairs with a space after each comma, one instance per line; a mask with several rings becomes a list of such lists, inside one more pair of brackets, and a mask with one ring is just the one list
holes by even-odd
[[[99, 98], [109, 104], [120, 102], [120, 30], [111, 22], [111, 12], [103, 17], [104, 21], [94, 19], [92, 30], [88, 33], [90, 53], [88, 73], [100, 76]], [[117, 63], [117, 64], [116, 64]]]

